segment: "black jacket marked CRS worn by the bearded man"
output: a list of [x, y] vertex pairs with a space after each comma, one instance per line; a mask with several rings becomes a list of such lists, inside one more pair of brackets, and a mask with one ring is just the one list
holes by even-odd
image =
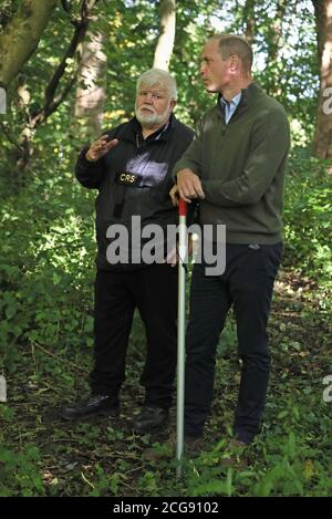
[[[131, 238], [132, 216], [141, 217], [141, 225], [158, 224], [166, 228], [177, 224], [169, 189], [172, 169], [190, 144], [194, 132], [170, 116], [169, 124], [147, 139], [136, 117], [106, 134], [117, 138], [118, 145], [95, 163], [86, 160], [83, 148], [76, 163], [76, 178], [87, 187], [98, 189], [96, 198], [96, 266], [102, 270], [127, 270], [135, 263], [110, 264], [106, 250], [112, 239], [106, 238], [110, 226], [122, 224]], [[126, 184], [123, 180], [128, 180]], [[132, 181], [133, 180], [133, 181]], [[131, 263], [131, 242], [128, 259]]]

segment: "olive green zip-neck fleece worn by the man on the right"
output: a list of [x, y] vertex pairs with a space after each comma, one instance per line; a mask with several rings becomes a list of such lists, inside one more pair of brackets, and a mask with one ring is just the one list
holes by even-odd
[[219, 98], [204, 115], [173, 175], [189, 168], [199, 176], [200, 222], [225, 224], [228, 243], [277, 243], [289, 146], [283, 106], [251, 83], [228, 124]]

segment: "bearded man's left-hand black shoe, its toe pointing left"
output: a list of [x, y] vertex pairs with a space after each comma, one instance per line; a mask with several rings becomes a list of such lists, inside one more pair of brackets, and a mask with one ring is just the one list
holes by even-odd
[[64, 405], [60, 415], [64, 419], [76, 419], [96, 415], [116, 417], [118, 413], [120, 403], [117, 397], [92, 395], [87, 401]]

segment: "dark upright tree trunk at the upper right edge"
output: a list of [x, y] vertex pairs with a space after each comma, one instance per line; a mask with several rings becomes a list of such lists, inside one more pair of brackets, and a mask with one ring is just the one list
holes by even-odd
[[320, 95], [313, 153], [332, 158], [332, 0], [313, 0], [318, 54], [320, 60]]

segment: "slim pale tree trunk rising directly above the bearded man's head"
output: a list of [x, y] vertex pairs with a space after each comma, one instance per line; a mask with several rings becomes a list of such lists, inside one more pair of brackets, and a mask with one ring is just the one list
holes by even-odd
[[168, 71], [175, 39], [176, 0], [160, 0], [160, 34], [158, 38], [154, 66]]

